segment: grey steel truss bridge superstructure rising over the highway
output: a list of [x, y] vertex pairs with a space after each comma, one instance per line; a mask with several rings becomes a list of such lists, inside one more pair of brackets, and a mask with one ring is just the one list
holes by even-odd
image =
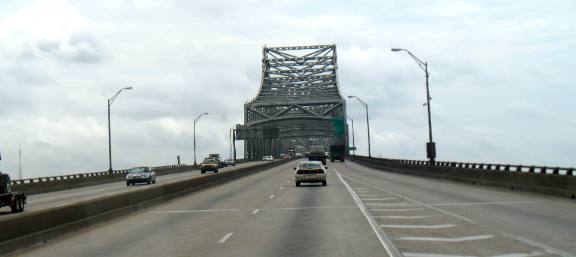
[[262, 56], [260, 89], [236, 127], [245, 158], [347, 145], [336, 45], [264, 47]]

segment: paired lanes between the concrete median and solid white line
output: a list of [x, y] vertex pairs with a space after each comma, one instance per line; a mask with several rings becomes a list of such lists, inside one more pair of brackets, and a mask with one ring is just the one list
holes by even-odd
[[19, 256], [386, 256], [332, 172], [295, 187], [284, 164]]

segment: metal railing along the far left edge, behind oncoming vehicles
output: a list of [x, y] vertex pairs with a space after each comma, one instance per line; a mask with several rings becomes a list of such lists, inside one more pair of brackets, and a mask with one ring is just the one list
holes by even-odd
[[[236, 164], [244, 163], [243, 159], [236, 160]], [[165, 166], [155, 166], [151, 167], [153, 170], [166, 170], [166, 169], [174, 169], [174, 168], [184, 168], [190, 167], [193, 169], [197, 169], [199, 166], [194, 165], [165, 165]], [[33, 184], [33, 183], [45, 183], [51, 181], [62, 181], [62, 180], [71, 180], [71, 179], [78, 179], [78, 178], [89, 178], [89, 177], [100, 177], [100, 176], [109, 176], [109, 175], [117, 175], [117, 174], [126, 174], [129, 169], [123, 170], [114, 170], [112, 173], [108, 171], [98, 171], [98, 172], [89, 172], [89, 173], [77, 173], [77, 174], [68, 174], [68, 175], [59, 175], [59, 176], [50, 176], [50, 177], [37, 177], [37, 178], [27, 178], [27, 179], [15, 179], [10, 181], [10, 185], [21, 185], [21, 184]]]

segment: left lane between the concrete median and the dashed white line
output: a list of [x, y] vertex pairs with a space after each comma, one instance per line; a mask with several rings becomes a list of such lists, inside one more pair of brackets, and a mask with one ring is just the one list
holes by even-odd
[[[284, 168], [283, 168], [284, 167]], [[217, 187], [176, 198], [157, 207], [112, 220], [54, 241], [23, 256], [202, 256], [206, 247], [252, 215], [278, 188], [265, 174], [284, 164]], [[268, 175], [269, 176], [269, 175]], [[216, 255], [215, 255], [216, 256]]]

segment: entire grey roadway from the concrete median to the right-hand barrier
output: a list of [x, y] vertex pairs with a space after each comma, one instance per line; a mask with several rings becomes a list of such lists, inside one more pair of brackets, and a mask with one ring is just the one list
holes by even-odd
[[18, 256], [574, 256], [573, 200], [295, 162], [86, 228]]

